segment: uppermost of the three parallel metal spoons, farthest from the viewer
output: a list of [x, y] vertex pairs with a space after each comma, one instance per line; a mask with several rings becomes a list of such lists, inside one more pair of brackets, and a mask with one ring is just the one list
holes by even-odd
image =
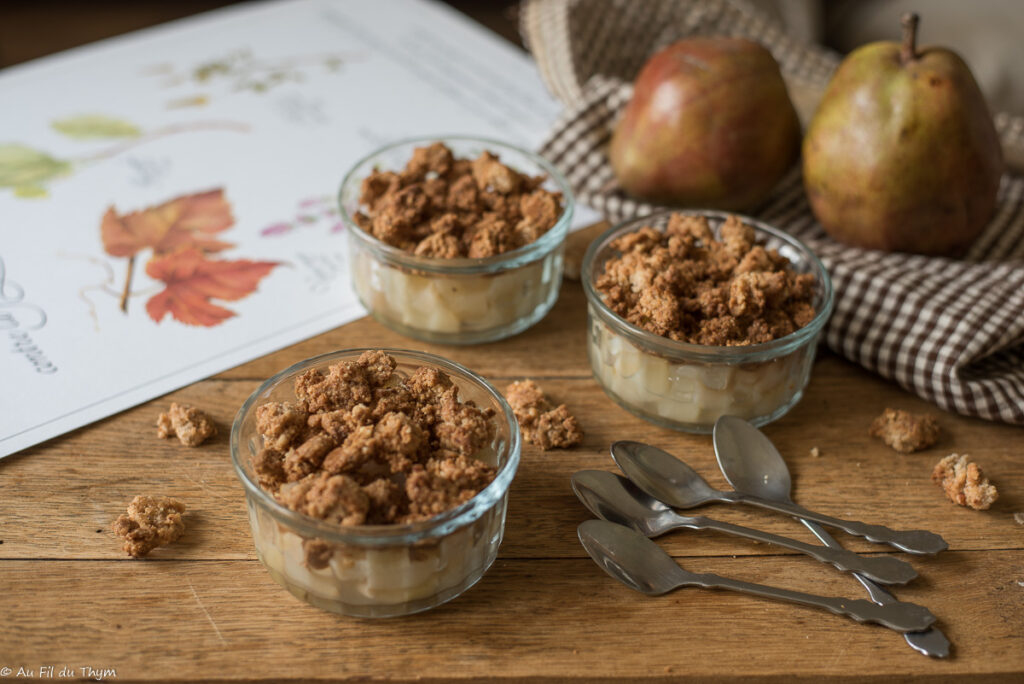
[[[751, 504], [798, 518], [814, 520], [829, 527], [839, 527], [870, 542], [889, 544], [908, 553], [938, 553], [949, 548], [941, 537], [924, 529], [899, 531], [882, 525], [841, 520], [809, 511], [793, 503], [770, 501], [741, 491], [713, 489], [688, 465], [650, 444], [616, 441], [611, 445], [611, 457], [634, 484], [675, 508], [693, 508], [715, 501], [727, 504]], [[776, 473], [765, 473], [762, 478], [771, 481], [777, 476]]]

